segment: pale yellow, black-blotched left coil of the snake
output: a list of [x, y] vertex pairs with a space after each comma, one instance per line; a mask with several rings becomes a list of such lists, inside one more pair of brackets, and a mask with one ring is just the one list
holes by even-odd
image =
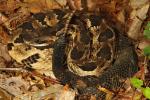
[[10, 56], [25, 67], [55, 78], [52, 53], [57, 35], [64, 32], [71, 11], [53, 10], [31, 15], [12, 31], [7, 44]]

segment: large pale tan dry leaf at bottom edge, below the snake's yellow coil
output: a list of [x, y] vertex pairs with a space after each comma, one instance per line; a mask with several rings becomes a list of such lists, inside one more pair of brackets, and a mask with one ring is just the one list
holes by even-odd
[[74, 91], [63, 90], [62, 85], [52, 85], [44, 90], [17, 96], [14, 100], [74, 100], [74, 97]]

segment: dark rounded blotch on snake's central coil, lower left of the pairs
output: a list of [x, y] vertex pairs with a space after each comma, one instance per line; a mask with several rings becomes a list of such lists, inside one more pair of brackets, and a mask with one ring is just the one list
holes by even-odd
[[84, 54], [83, 51], [79, 51], [76, 47], [74, 47], [73, 50], [71, 51], [71, 58], [73, 60], [79, 60], [83, 56], [83, 54]]

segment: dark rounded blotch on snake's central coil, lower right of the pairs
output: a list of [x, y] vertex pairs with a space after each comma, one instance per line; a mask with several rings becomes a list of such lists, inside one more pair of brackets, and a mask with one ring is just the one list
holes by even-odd
[[104, 45], [100, 49], [100, 51], [97, 53], [97, 56], [102, 59], [110, 60], [111, 59], [111, 48], [108, 45]]

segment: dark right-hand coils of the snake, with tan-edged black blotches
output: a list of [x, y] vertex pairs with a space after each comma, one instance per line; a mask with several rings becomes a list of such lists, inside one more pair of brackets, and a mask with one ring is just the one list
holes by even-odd
[[123, 88], [125, 80], [138, 71], [137, 55], [132, 41], [109, 26], [107, 19], [97, 15], [101, 21], [92, 22], [91, 13], [78, 14], [55, 41], [53, 71], [62, 84], [77, 88], [76, 99], [88, 100], [93, 95], [105, 100], [107, 91], [98, 87], [112, 92]]

